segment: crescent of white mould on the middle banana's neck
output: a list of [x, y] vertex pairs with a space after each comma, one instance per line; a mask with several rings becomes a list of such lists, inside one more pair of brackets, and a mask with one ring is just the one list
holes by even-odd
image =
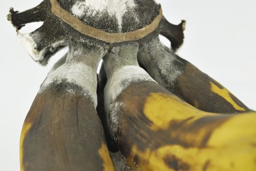
[[116, 98], [129, 85], [145, 81], [155, 82], [140, 66], [126, 65], [116, 70], [108, 80], [104, 90], [106, 112], [110, 111], [110, 104], [116, 101]]

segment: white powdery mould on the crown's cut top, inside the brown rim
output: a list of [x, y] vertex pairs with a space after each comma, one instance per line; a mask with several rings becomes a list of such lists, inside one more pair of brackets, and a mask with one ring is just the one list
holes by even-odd
[[116, 17], [120, 29], [123, 15], [135, 7], [134, 0], [83, 0], [77, 1], [71, 12], [77, 17], [83, 17], [85, 14], [95, 16], [107, 11], [110, 16]]

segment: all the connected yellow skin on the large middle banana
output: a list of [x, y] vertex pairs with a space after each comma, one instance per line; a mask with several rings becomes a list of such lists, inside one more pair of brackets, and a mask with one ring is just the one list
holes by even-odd
[[[167, 129], [173, 120], [195, 117], [189, 121], [194, 122], [205, 116], [223, 116], [198, 110], [174, 95], [163, 93], [151, 93], [145, 101], [143, 112], [152, 121], [150, 128], [153, 130]], [[158, 149], [148, 146], [142, 151], [133, 145], [127, 163], [140, 171], [255, 171], [256, 112], [229, 115], [229, 118], [214, 129], [206, 147], [184, 148], [177, 144], [163, 145]], [[152, 138], [149, 141], [155, 140]], [[138, 163], [134, 163], [134, 158]]]

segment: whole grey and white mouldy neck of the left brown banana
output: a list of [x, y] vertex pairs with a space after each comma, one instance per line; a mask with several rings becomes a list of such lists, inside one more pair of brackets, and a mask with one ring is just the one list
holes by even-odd
[[[75, 83], [73, 90], [81, 91], [91, 99], [93, 106], [97, 106], [97, 66], [102, 57], [107, 53], [106, 47], [87, 47], [86, 44], [70, 42], [70, 51], [66, 61], [56, 70], [50, 72], [42, 84], [40, 92], [47, 90], [48, 86], [65, 81]], [[58, 84], [58, 82], [57, 82]], [[79, 88], [77, 88], [80, 87]]]

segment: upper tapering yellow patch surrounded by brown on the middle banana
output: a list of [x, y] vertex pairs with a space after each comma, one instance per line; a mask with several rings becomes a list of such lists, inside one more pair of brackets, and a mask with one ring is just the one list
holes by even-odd
[[151, 93], [144, 105], [144, 115], [153, 123], [152, 130], [167, 129], [173, 120], [185, 120], [193, 117], [194, 121], [212, 113], [198, 110], [171, 94]]

